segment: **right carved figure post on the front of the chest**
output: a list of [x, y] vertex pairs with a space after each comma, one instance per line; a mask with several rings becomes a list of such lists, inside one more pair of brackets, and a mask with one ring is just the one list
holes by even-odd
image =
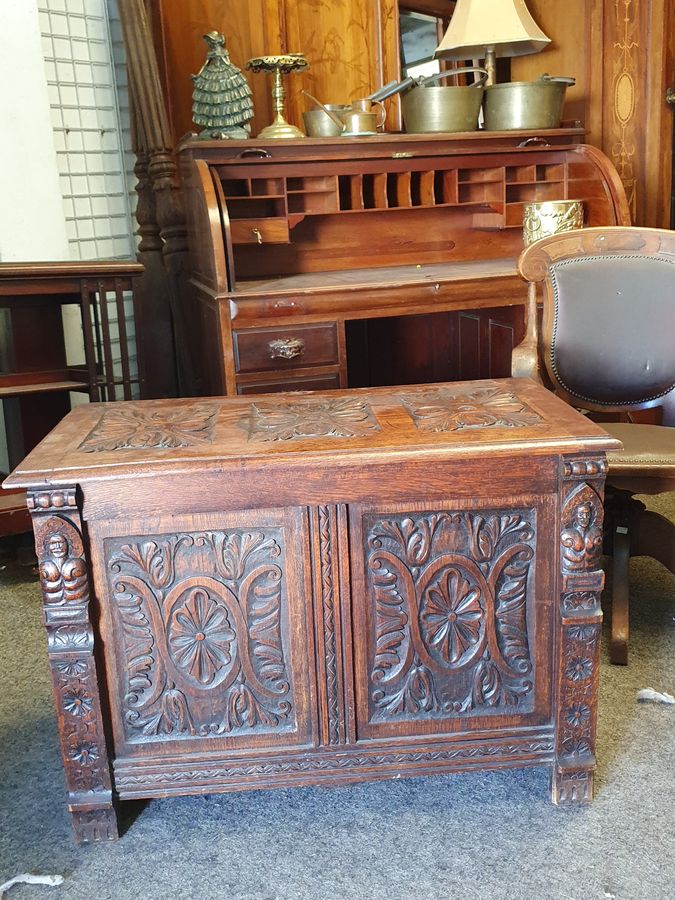
[[556, 761], [554, 803], [593, 799], [595, 729], [604, 573], [603, 489], [607, 463], [602, 457], [563, 461], [560, 555], [561, 594], [556, 654]]

